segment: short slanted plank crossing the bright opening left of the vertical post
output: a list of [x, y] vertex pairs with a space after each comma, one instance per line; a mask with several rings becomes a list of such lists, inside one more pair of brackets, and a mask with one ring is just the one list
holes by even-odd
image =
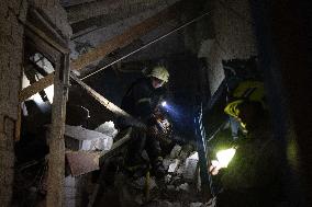
[[44, 90], [45, 88], [52, 85], [53, 82], [54, 82], [54, 73], [49, 73], [46, 77], [31, 84], [30, 87], [26, 87], [19, 94], [20, 103], [31, 97], [32, 95], [36, 94], [37, 92]]

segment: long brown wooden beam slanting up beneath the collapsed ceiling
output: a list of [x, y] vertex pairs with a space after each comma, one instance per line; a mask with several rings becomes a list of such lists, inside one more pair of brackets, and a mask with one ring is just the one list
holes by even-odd
[[131, 44], [133, 41], [157, 28], [165, 22], [175, 19], [178, 14], [178, 11], [180, 11], [180, 9], [181, 9], [181, 3], [179, 2], [157, 13], [156, 15], [146, 19], [140, 24], [130, 27], [124, 33], [114, 36], [113, 38], [103, 43], [96, 49], [92, 49], [81, 55], [78, 59], [73, 60], [70, 64], [70, 68], [75, 70], [80, 70], [86, 66], [105, 57], [108, 54], [114, 51], [115, 49]]

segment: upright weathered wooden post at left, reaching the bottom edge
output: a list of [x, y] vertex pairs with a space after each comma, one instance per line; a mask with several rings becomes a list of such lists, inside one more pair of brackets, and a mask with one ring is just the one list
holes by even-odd
[[65, 118], [69, 84], [69, 55], [64, 54], [56, 64], [54, 79], [54, 102], [52, 105], [52, 128], [49, 134], [48, 176], [46, 207], [63, 206], [65, 179]]

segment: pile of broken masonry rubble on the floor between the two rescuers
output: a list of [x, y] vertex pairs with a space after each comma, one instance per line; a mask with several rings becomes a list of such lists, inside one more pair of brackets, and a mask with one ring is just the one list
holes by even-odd
[[[119, 192], [120, 206], [146, 207], [212, 207], [213, 202], [202, 203], [198, 189], [198, 152], [189, 145], [176, 145], [164, 160], [167, 170], [164, 179], [147, 172], [140, 177], [119, 173], [114, 187]], [[105, 196], [105, 195], [102, 195]], [[108, 200], [101, 204], [108, 204]], [[100, 205], [99, 205], [100, 206]]]

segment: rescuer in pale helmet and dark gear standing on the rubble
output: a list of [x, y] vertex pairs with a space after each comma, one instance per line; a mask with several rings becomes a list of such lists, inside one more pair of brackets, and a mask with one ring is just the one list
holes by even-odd
[[142, 152], [145, 149], [152, 163], [152, 173], [161, 177], [165, 174], [163, 166], [161, 149], [157, 139], [156, 108], [165, 95], [165, 83], [168, 82], [169, 73], [165, 67], [154, 67], [152, 72], [135, 81], [127, 90], [122, 100], [121, 107], [132, 116], [140, 119], [145, 126], [133, 126], [132, 140], [127, 148], [126, 165], [135, 170], [142, 165]]

